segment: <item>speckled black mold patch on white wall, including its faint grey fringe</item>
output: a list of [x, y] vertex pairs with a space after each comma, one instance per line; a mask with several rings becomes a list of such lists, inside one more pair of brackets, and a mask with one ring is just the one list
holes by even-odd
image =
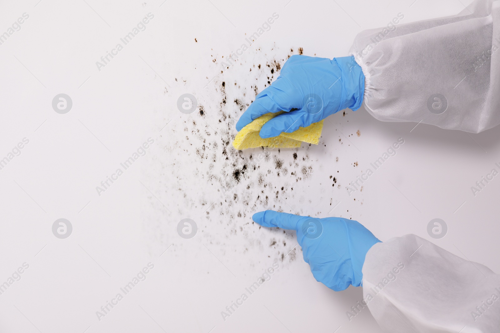
[[[299, 48], [299, 53], [302, 51]], [[251, 254], [245, 265], [255, 264], [253, 260], [260, 260], [263, 253], [273, 260], [292, 262], [298, 251], [292, 250], [296, 245], [295, 233], [261, 228], [251, 216], [266, 209], [311, 213], [306, 205], [290, 210], [293, 202], [307, 201], [303, 195], [308, 191], [315, 165], [309, 156], [311, 146], [238, 151], [231, 142], [241, 113], [260, 91], [272, 84], [293, 50], [286, 54], [274, 51], [274, 56], [264, 56], [260, 50], [247, 52], [245, 58], [227, 70], [222, 68], [223, 74], [212, 79], [206, 93], [193, 92], [198, 99], [197, 112], [175, 114], [168, 130], [162, 131], [152, 146], [155, 153], [146, 155], [153, 167], [144, 177], [148, 189], [159, 200], [151, 200], [147, 211], [153, 208], [162, 217], [148, 223], [156, 223], [154, 237], [162, 244], [177, 240], [178, 236], [171, 234], [172, 228], [189, 217], [197, 223], [196, 237], [210, 245], [210, 251], [217, 256], [230, 249], [240, 255]], [[245, 62], [251, 58], [251, 52], [254, 62]], [[207, 62], [220, 69], [218, 58], [226, 59], [214, 53]]]

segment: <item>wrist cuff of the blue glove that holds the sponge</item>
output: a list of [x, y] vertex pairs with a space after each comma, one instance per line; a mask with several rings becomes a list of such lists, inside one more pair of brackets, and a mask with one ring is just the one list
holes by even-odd
[[340, 111], [349, 108], [356, 111], [363, 102], [364, 74], [352, 55], [333, 58], [342, 71], [342, 102]]

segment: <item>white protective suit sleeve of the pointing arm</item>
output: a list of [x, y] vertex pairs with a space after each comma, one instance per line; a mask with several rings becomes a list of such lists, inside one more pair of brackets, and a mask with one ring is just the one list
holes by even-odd
[[385, 332], [490, 333], [500, 328], [500, 276], [418, 236], [373, 245], [362, 275], [358, 307], [367, 305]]

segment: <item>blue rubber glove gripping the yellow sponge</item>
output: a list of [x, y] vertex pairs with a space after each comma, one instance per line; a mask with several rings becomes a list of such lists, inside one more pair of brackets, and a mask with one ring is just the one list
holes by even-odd
[[364, 75], [353, 56], [330, 60], [292, 55], [241, 115], [236, 130], [265, 113], [286, 111], [266, 122], [260, 137], [291, 133], [345, 108], [357, 110], [363, 94]]

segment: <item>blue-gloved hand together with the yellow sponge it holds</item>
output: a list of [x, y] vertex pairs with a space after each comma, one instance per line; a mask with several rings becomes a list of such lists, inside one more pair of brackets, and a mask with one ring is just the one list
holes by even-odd
[[236, 149], [318, 144], [323, 119], [362, 103], [364, 75], [353, 56], [292, 55], [236, 123]]

